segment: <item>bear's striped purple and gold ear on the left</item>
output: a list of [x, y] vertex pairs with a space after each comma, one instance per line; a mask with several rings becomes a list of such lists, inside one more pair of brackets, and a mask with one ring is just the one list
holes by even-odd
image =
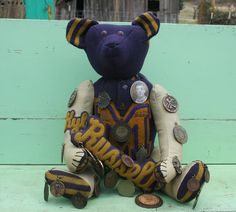
[[75, 18], [70, 20], [66, 28], [66, 40], [75, 47], [84, 49], [84, 35], [91, 26], [96, 24], [98, 22], [90, 19]]

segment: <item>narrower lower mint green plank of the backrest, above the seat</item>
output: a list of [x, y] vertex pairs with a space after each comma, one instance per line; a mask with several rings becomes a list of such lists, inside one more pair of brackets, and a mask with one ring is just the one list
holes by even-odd
[[[0, 120], [0, 164], [60, 164], [64, 120]], [[183, 163], [236, 163], [236, 122], [182, 121]], [[158, 141], [156, 140], [156, 145]]]

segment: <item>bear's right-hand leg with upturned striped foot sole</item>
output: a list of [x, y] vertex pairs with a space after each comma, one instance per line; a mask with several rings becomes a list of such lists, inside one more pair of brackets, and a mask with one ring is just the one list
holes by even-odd
[[189, 202], [196, 198], [205, 182], [209, 181], [209, 171], [202, 161], [194, 161], [182, 169], [163, 191], [179, 202]]

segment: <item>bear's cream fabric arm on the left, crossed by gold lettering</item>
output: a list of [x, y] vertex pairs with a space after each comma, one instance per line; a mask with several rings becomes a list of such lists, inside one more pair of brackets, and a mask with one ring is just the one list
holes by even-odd
[[[69, 107], [68, 111], [75, 111], [75, 116], [78, 117], [84, 111], [89, 115], [93, 112], [94, 101], [94, 87], [92, 81], [84, 81], [76, 89], [76, 97], [73, 104]], [[71, 172], [76, 172], [80, 165], [80, 161], [85, 155], [83, 148], [78, 148], [71, 143], [71, 136], [69, 130], [65, 132], [64, 137], [64, 161]]]

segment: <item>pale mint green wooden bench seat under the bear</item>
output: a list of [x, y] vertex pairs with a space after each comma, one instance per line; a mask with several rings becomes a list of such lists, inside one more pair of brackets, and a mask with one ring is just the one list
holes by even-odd
[[[16, 211], [16, 208], [18, 211], [25, 212], [78, 211], [72, 206], [70, 200], [65, 198], [50, 195], [49, 201], [44, 202], [44, 172], [51, 168], [51, 166], [0, 166], [1, 211], [12, 212]], [[214, 165], [209, 166], [209, 169], [212, 175], [211, 181], [203, 188], [194, 211], [236, 211], [235, 165]], [[103, 189], [98, 198], [88, 201], [83, 211], [192, 211], [193, 202], [180, 204], [163, 194], [159, 195], [164, 202], [161, 208], [144, 209], [134, 203], [133, 197], [121, 197], [115, 191]]]

